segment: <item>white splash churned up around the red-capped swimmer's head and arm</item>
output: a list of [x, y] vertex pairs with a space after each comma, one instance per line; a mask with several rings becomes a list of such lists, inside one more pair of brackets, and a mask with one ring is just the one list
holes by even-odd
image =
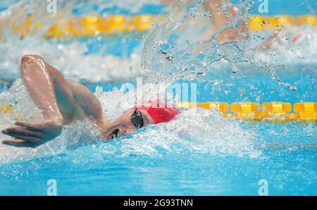
[[[17, 82], [18, 83], [18, 82]], [[38, 116], [33, 121], [40, 121], [39, 110], [32, 106], [27, 94], [21, 95], [23, 85], [13, 85], [11, 89], [1, 95], [3, 101], [17, 101], [15, 111], [20, 116]], [[15, 97], [20, 89], [20, 96]], [[134, 91], [124, 92], [122, 89], [112, 92], [97, 92], [97, 97], [103, 104], [104, 111], [111, 113], [110, 118], [116, 118], [123, 111], [129, 109], [135, 99]], [[151, 90], [145, 93], [151, 94]], [[122, 99], [122, 100], [120, 100]], [[24, 112], [23, 112], [24, 110]], [[2, 114], [1, 114], [2, 115]], [[2, 115], [0, 129], [11, 126], [13, 119], [10, 115]], [[8, 121], [9, 123], [6, 123]], [[0, 135], [4, 140], [5, 136]], [[65, 126], [62, 134], [37, 149], [15, 148], [0, 144], [0, 163], [11, 161], [27, 161], [33, 158], [63, 154], [69, 149], [75, 149], [82, 144], [97, 144], [101, 154], [113, 153], [120, 156], [130, 154], [161, 155], [166, 152], [182, 153], [212, 153], [237, 156], [259, 156], [254, 144], [254, 134], [241, 128], [239, 122], [228, 121], [218, 111], [192, 109], [184, 110], [174, 121], [151, 125], [135, 134], [123, 137], [123, 140], [102, 142], [97, 126], [92, 121], [83, 121], [75, 125]], [[102, 143], [101, 143], [102, 142]]]

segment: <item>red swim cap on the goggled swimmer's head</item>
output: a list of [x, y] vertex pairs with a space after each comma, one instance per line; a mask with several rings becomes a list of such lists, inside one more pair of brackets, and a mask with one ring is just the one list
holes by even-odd
[[164, 123], [173, 120], [180, 111], [174, 107], [169, 107], [166, 102], [147, 101], [142, 105], [136, 105], [134, 108], [147, 111], [155, 124]]

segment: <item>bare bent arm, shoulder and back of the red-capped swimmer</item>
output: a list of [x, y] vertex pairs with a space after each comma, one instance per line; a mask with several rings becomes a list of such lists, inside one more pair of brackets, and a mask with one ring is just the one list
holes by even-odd
[[61, 134], [63, 125], [85, 118], [96, 121], [100, 128], [104, 121], [100, 101], [84, 85], [66, 80], [56, 68], [40, 56], [23, 56], [20, 64], [23, 84], [45, 121], [40, 123], [16, 122], [16, 127], [2, 130], [12, 140], [3, 141], [15, 147], [37, 147]]

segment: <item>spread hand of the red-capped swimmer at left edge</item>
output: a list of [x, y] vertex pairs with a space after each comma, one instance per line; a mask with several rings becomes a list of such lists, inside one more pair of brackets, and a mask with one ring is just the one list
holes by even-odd
[[14, 138], [13, 140], [4, 140], [2, 143], [13, 147], [36, 148], [60, 135], [63, 124], [57, 121], [45, 121], [38, 124], [16, 122], [15, 125], [19, 127], [2, 130], [4, 135]]

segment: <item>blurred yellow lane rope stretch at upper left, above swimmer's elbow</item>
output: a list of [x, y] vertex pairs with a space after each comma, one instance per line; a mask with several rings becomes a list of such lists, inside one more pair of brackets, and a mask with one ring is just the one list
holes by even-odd
[[[163, 21], [164, 17], [141, 16], [81, 16], [60, 19], [44, 32], [46, 38], [91, 37], [95, 35], [114, 35], [126, 32], [142, 32], [149, 30], [156, 21]], [[11, 23], [13, 32], [21, 37], [34, 35], [42, 29], [42, 20], [35, 20], [33, 16], [26, 17], [23, 25]]]

